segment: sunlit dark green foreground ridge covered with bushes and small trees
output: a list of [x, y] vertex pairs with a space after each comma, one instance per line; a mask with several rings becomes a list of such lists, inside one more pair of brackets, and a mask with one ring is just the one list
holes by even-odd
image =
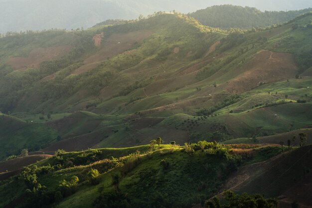
[[[228, 175], [245, 161], [263, 161], [272, 157], [257, 159], [258, 156], [253, 154], [258, 148], [267, 149], [269, 146], [241, 147], [251, 151], [249, 157], [237, 152], [242, 149], [206, 141], [182, 147], [160, 145], [155, 151], [150, 145], [70, 153], [57, 151], [53, 157], [0, 182], [0, 206], [120, 208], [203, 205], [206, 199], [218, 193]], [[192, 150], [191, 153], [188, 149]], [[277, 147], [276, 154], [281, 149]]]

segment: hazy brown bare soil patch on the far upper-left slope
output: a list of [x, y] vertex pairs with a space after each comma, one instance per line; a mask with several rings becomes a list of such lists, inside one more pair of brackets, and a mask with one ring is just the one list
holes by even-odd
[[41, 62], [64, 56], [70, 49], [70, 45], [36, 48], [29, 53], [28, 57], [10, 57], [7, 64], [16, 70], [38, 68]]

